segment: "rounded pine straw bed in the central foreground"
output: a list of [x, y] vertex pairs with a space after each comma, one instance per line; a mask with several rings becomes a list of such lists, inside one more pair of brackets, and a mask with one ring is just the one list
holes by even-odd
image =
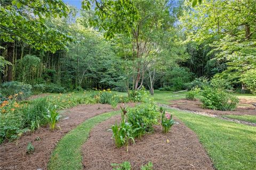
[[[168, 134], [162, 134], [162, 126], [155, 126], [153, 134], [146, 134], [135, 144], [116, 148], [112, 132], [107, 131], [120, 116], [114, 116], [98, 124], [82, 146], [84, 169], [112, 169], [111, 163], [130, 161], [132, 169], [140, 169], [151, 161], [154, 169], [214, 169], [196, 134], [180, 121]], [[170, 141], [167, 143], [167, 139]]]

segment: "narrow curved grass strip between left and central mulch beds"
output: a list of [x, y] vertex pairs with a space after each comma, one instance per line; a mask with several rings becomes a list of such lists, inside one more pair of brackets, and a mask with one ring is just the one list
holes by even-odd
[[91, 129], [103, 120], [107, 120], [117, 114], [120, 114], [120, 112], [114, 111], [95, 116], [85, 120], [85, 122], [70, 131], [58, 142], [57, 147], [52, 153], [47, 169], [83, 169], [81, 146], [87, 140]]

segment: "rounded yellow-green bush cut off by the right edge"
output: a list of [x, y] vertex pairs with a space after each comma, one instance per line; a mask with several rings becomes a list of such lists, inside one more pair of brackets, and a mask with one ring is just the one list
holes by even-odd
[[252, 93], [256, 93], [256, 69], [246, 71], [241, 76], [241, 81], [246, 85]]

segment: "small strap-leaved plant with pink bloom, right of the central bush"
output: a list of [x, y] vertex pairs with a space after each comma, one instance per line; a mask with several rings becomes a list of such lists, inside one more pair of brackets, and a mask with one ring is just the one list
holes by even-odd
[[172, 125], [175, 124], [174, 120], [172, 119], [172, 115], [166, 114], [165, 110], [163, 108], [160, 108], [160, 111], [162, 112], [162, 129], [163, 133], [168, 133]]

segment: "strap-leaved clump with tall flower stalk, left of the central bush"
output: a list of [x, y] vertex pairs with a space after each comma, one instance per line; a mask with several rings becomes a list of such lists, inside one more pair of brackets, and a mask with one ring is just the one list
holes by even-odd
[[121, 112], [122, 120], [119, 123], [119, 125], [116, 122], [115, 125], [111, 127], [111, 129], [113, 131], [113, 138], [115, 140], [116, 147], [120, 148], [123, 145], [125, 145], [126, 151], [128, 151], [129, 142], [135, 143], [135, 141], [134, 141], [133, 129], [131, 124], [125, 122], [124, 116], [126, 111], [123, 108], [121, 109], [122, 109], [122, 112]]

